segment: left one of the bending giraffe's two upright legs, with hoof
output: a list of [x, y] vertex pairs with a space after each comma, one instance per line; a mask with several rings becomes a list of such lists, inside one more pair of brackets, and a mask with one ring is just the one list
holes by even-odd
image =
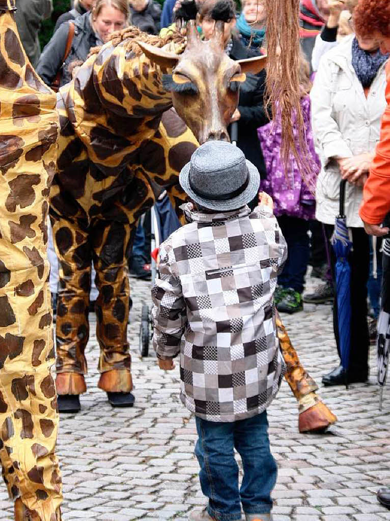
[[[88, 229], [52, 212], [53, 239], [59, 259], [57, 301], [57, 393], [60, 396], [86, 392], [84, 351], [89, 339], [89, 293], [92, 247]], [[60, 408], [64, 407], [60, 402]], [[64, 412], [66, 408], [62, 409]]]

